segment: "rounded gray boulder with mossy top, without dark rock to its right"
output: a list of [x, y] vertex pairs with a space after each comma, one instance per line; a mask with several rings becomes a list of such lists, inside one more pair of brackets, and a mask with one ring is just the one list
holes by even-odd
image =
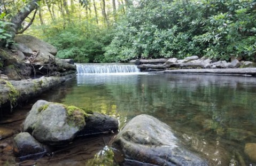
[[65, 144], [76, 136], [76, 133], [86, 124], [80, 112], [80, 124], [70, 117], [64, 105], [38, 100], [30, 110], [24, 122], [24, 131], [32, 133], [33, 137], [41, 143], [48, 145]]

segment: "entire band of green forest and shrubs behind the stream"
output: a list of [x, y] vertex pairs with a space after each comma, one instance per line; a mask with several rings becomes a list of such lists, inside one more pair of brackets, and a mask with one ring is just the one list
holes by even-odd
[[[22, 33], [56, 46], [76, 62], [206, 56], [255, 60], [255, 0], [41, 0]], [[28, 0], [1, 0], [0, 39]]]

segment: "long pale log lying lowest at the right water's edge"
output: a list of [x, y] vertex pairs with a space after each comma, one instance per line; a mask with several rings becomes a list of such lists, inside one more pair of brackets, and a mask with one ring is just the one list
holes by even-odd
[[227, 68], [227, 69], [176, 69], [165, 70], [164, 73], [195, 73], [195, 74], [240, 74], [240, 75], [256, 75], [256, 68]]

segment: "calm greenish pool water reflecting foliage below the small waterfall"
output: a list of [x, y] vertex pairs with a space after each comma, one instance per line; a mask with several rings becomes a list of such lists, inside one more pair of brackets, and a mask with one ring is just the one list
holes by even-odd
[[[229, 165], [230, 161], [256, 165], [244, 153], [245, 144], [256, 143], [255, 77], [77, 75], [40, 99], [115, 116], [120, 128], [136, 115], [149, 114], [170, 125], [184, 146], [205, 157], [211, 165]], [[103, 150], [98, 149], [89, 161], [82, 160], [82, 156], [78, 160], [75, 154], [79, 151], [72, 152], [76, 148], [71, 148], [71, 157], [64, 161], [75, 165], [114, 165], [113, 152], [105, 145], [101, 144]]]

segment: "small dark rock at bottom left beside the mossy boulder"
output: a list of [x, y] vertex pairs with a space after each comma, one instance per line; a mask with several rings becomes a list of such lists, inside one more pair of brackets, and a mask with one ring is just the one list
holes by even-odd
[[13, 153], [15, 156], [27, 156], [45, 152], [44, 146], [28, 132], [21, 132], [14, 138]]

